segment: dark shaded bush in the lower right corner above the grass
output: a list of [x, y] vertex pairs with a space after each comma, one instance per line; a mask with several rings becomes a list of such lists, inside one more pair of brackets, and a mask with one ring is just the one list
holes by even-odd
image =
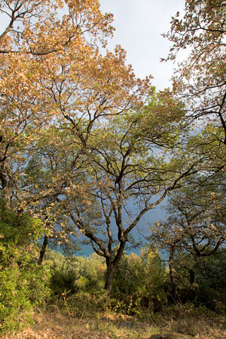
[[174, 278], [182, 304], [225, 312], [225, 272], [225, 248], [198, 258], [180, 251], [174, 261]]

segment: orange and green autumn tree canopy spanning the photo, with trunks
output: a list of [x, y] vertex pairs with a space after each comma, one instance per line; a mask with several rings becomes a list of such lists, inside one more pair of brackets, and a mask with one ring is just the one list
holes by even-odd
[[[42, 220], [49, 239], [78, 234], [105, 258], [105, 288], [133, 230], [169, 197], [153, 239], [172, 258], [210, 256], [225, 243], [225, 13], [185, 2], [165, 37], [181, 49], [172, 90], [136, 78], [126, 52], [106, 49], [112, 14], [97, 0], [1, 1], [0, 189], [18, 220]], [[32, 240], [32, 239], [31, 239]], [[174, 252], [174, 253], [173, 253]], [[171, 275], [172, 283], [174, 277]], [[174, 295], [176, 291], [174, 290]]]

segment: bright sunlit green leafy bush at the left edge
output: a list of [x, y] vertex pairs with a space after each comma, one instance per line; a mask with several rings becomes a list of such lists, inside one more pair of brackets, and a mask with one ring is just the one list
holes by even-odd
[[40, 220], [0, 210], [0, 331], [13, 331], [31, 320], [30, 310], [49, 296], [49, 270], [38, 266]]

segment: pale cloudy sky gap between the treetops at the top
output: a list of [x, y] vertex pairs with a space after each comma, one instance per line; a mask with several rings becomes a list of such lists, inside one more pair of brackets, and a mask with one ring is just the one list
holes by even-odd
[[[150, 74], [158, 90], [169, 87], [176, 67], [172, 62], [160, 62], [167, 57], [170, 42], [161, 36], [170, 28], [172, 16], [183, 13], [185, 0], [100, 0], [102, 12], [114, 14], [114, 37], [108, 49], [116, 44], [127, 52], [127, 62], [138, 78]], [[183, 57], [183, 56], [182, 56]]]

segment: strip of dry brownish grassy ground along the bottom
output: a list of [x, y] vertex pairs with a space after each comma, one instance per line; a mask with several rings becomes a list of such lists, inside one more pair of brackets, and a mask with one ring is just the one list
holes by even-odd
[[35, 323], [20, 333], [5, 335], [4, 339], [148, 339], [154, 333], [177, 332], [196, 339], [225, 339], [226, 318], [170, 316], [141, 322], [132, 316], [110, 313], [93, 317], [72, 317], [66, 311], [52, 307], [35, 314]]

